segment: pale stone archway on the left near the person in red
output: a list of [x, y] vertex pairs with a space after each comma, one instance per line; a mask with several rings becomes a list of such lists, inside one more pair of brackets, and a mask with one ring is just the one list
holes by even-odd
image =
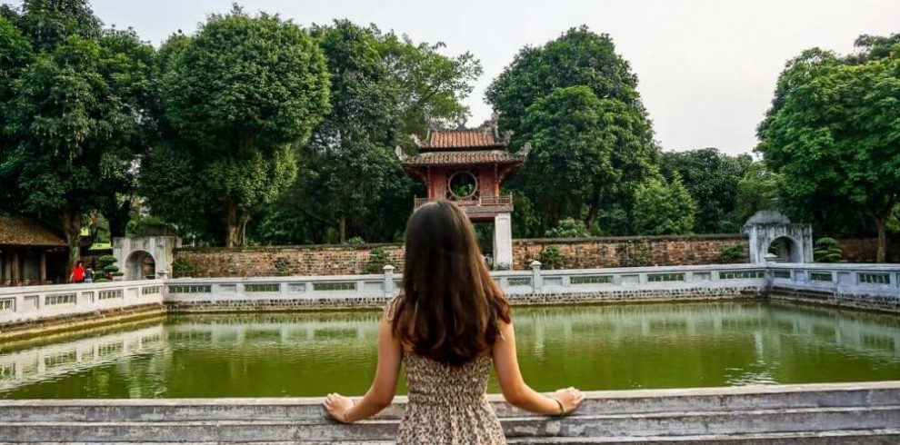
[[172, 274], [172, 262], [178, 247], [181, 247], [181, 238], [175, 236], [114, 238], [113, 256], [120, 267], [125, 267], [125, 280], [144, 280], [150, 274], [148, 257], [153, 262], [153, 275], [163, 278]]

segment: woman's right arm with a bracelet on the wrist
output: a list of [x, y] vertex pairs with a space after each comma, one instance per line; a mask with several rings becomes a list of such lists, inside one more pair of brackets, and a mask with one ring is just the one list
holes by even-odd
[[529, 387], [519, 371], [519, 361], [515, 355], [515, 331], [511, 323], [500, 323], [503, 336], [494, 343], [494, 368], [503, 397], [510, 404], [522, 410], [538, 414], [560, 414], [559, 401], [565, 413], [572, 412], [585, 399], [584, 393], [575, 388], [556, 391], [547, 397]]

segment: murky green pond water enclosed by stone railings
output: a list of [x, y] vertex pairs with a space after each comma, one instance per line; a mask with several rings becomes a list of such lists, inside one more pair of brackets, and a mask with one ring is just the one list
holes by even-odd
[[[169, 316], [0, 344], [0, 398], [358, 395], [375, 371], [379, 317]], [[516, 308], [514, 322], [525, 381], [538, 391], [900, 380], [892, 315], [705, 302]], [[489, 391], [499, 391], [493, 378]]]

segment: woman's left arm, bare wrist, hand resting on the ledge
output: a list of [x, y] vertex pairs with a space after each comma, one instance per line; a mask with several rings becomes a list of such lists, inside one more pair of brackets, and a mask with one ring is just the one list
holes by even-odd
[[378, 326], [378, 367], [369, 391], [356, 403], [337, 393], [328, 394], [325, 398], [325, 410], [335, 420], [344, 423], [368, 419], [384, 410], [394, 400], [402, 358], [403, 349], [400, 342], [395, 340], [391, 322], [385, 314]]

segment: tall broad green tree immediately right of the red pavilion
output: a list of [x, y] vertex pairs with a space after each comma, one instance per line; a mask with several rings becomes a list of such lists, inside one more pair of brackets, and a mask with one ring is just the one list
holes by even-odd
[[[501, 129], [513, 132], [515, 149], [527, 142], [535, 147], [535, 153], [525, 163], [525, 171], [516, 175], [509, 187], [525, 193], [535, 204], [535, 210], [547, 215], [537, 232], [555, 227], [565, 216], [583, 220], [593, 232], [604, 232], [595, 227], [595, 221], [605, 215], [602, 209], [617, 208], [623, 212], [630, 209], [633, 184], [645, 180], [647, 166], [655, 161], [657, 151], [636, 88], [637, 77], [625, 59], [615, 54], [612, 39], [597, 35], [585, 26], [569, 29], [543, 46], [525, 47], [490, 84], [487, 102], [499, 113]], [[560, 90], [565, 93], [550, 100]], [[575, 100], [576, 97], [581, 99]], [[549, 102], [542, 103], [542, 100]], [[575, 106], [583, 111], [585, 105], [594, 110], [586, 114], [567, 111], [562, 108], [567, 100], [586, 100]], [[561, 107], [550, 110], [556, 105]], [[553, 114], [557, 116], [550, 117]], [[588, 123], [598, 119], [593, 114], [605, 117], [601, 118], [602, 123], [597, 122], [600, 128], [587, 130]], [[574, 121], [567, 122], [565, 115]], [[575, 127], [585, 128], [585, 134], [574, 132]], [[551, 146], [555, 134], [566, 136], [560, 139], [562, 143], [555, 156], [546, 157], [548, 150], [554, 150]], [[590, 147], [609, 148], [604, 148], [604, 155], [596, 157], [597, 153], [592, 153], [595, 148]], [[545, 154], [541, 154], [542, 150]], [[562, 153], [575, 157], [560, 157]], [[558, 175], [542, 175], [540, 168], [552, 168]], [[623, 181], [606, 181], [591, 176], [591, 171], [605, 171], [611, 178], [621, 174]], [[558, 190], [543, 185], [547, 181], [558, 184], [573, 174], [585, 178], [586, 185]]]

